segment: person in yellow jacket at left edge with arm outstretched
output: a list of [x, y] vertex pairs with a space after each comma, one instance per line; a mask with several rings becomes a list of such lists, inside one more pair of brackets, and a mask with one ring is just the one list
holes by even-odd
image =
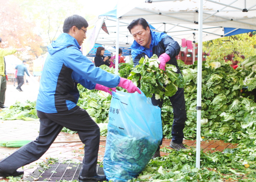
[[4, 56], [14, 54], [17, 51], [25, 51], [25, 48], [4, 48], [5, 44], [0, 37], [0, 108], [4, 108], [5, 91], [6, 91], [6, 76]]

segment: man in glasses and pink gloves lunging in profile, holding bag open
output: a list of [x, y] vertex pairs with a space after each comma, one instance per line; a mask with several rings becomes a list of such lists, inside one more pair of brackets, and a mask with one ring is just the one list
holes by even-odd
[[39, 136], [0, 161], [0, 176], [22, 175], [23, 171], [16, 170], [38, 160], [64, 126], [77, 131], [85, 144], [78, 180], [106, 180], [106, 176], [96, 173], [100, 130], [86, 110], [76, 105], [79, 98], [77, 84], [110, 94], [110, 88], [115, 91], [116, 86], [127, 89], [129, 93], [140, 93], [140, 90], [130, 80], [94, 66], [82, 54], [80, 46], [86, 38], [87, 27], [88, 23], [82, 16], [70, 16], [64, 21], [64, 33], [48, 46], [49, 55], [43, 68], [36, 106], [40, 118]]

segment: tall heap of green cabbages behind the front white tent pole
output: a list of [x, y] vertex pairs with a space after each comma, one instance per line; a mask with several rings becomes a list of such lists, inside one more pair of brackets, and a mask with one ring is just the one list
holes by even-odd
[[[187, 121], [184, 134], [187, 139], [196, 138], [197, 63], [185, 65], [179, 61], [185, 80]], [[201, 136], [237, 143], [243, 138], [256, 138], [256, 103], [254, 95], [241, 93], [247, 75], [244, 70], [235, 70], [224, 61], [202, 64], [202, 113]], [[166, 99], [167, 100], [167, 99]], [[171, 137], [171, 104], [166, 101], [163, 130]], [[163, 115], [163, 114], [162, 114]]]

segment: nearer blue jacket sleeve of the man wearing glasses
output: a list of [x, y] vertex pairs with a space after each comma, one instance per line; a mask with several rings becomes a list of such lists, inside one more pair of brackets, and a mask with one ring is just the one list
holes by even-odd
[[72, 69], [83, 78], [106, 87], [116, 87], [120, 82], [120, 77], [102, 70], [85, 57], [75, 46], [66, 49], [63, 54], [64, 65]]

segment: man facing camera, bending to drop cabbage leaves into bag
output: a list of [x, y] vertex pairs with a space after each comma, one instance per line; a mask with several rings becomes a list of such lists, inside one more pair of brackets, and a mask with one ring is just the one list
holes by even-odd
[[[166, 64], [175, 65], [178, 69], [177, 73], [181, 74], [181, 71], [178, 67], [177, 56], [180, 52], [179, 44], [163, 32], [154, 32], [149, 28], [149, 24], [143, 18], [138, 18], [133, 20], [128, 25], [128, 30], [134, 38], [134, 42], [131, 45], [131, 54], [133, 58], [134, 65], [139, 64], [141, 57], [152, 57], [153, 54], [158, 56], [160, 61], [159, 68], [165, 70]], [[159, 106], [160, 108], [163, 105], [163, 99], [155, 99], [153, 95], [152, 104]], [[180, 150], [186, 148], [183, 144], [184, 133], [183, 129], [185, 127], [185, 121], [187, 119], [186, 107], [185, 107], [185, 98], [184, 98], [184, 89], [178, 88], [178, 91], [172, 97], [169, 97], [174, 113], [174, 121], [172, 124], [172, 141], [170, 147]], [[160, 143], [162, 145], [162, 142]], [[160, 157], [160, 147], [158, 147], [155, 152], [154, 157]]]

